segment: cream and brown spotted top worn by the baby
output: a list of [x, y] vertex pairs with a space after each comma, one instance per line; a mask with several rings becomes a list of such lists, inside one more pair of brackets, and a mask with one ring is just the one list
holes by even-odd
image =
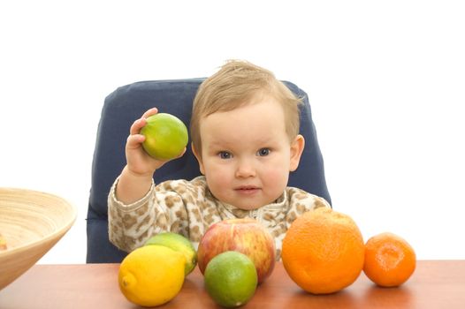
[[205, 177], [191, 181], [170, 180], [152, 183], [149, 192], [130, 205], [117, 200], [111, 186], [108, 197], [109, 237], [113, 245], [126, 252], [143, 245], [149, 237], [172, 231], [189, 238], [196, 248], [203, 233], [215, 222], [251, 217], [261, 222], [275, 239], [276, 260], [280, 260], [286, 230], [306, 211], [331, 207], [326, 200], [301, 189], [286, 187], [273, 203], [253, 210], [243, 210], [217, 200]]

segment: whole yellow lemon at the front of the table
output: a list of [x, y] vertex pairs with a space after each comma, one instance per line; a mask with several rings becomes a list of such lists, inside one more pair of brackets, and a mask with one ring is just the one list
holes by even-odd
[[119, 289], [133, 304], [163, 305], [181, 290], [185, 264], [182, 253], [166, 246], [142, 246], [121, 262]]

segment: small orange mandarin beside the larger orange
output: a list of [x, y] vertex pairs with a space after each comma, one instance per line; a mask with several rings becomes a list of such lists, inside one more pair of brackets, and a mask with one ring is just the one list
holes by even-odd
[[405, 283], [415, 271], [415, 251], [408, 242], [393, 233], [371, 237], [365, 245], [363, 272], [382, 287]]

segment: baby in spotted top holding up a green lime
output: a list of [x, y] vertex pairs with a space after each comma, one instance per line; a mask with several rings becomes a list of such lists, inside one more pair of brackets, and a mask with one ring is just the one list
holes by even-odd
[[[126, 166], [109, 194], [111, 243], [131, 252], [160, 232], [172, 231], [198, 245], [211, 224], [255, 218], [275, 238], [276, 259], [291, 223], [323, 198], [288, 187], [305, 140], [299, 134], [300, 98], [268, 70], [227, 62], [205, 79], [194, 98], [192, 149], [202, 176], [154, 184], [167, 162], [147, 155], [141, 143], [149, 109], [131, 126]], [[179, 156], [184, 154], [181, 153]]]

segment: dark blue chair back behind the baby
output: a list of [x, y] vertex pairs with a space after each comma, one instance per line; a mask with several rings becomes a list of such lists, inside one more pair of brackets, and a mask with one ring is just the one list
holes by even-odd
[[[92, 187], [88, 200], [88, 263], [120, 262], [127, 254], [109, 241], [107, 197], [111, 185], [126, 165], [125, 145], [131, 124], [147, 109], [157, 107], [159, 112], [175, 115], [189, 127], [192, 102], [202, 81], [203, 79], [141, 81], [118, 87], [106, 97], [96, 136]], [[291, 173], [289, 185], [319, 195], [331, 203], [308, 96], [293, 83], [285, 83], [294, 94], [304, 98], [301, 108], [301, 134], [306, 141], [299, 169]], [[192, 179], [199, 175], [198, 163], [190, 147], [187, 147], [186, 155], [156, 170], [154, 179], [156, 183], [160, 183], [169, 179]]]

